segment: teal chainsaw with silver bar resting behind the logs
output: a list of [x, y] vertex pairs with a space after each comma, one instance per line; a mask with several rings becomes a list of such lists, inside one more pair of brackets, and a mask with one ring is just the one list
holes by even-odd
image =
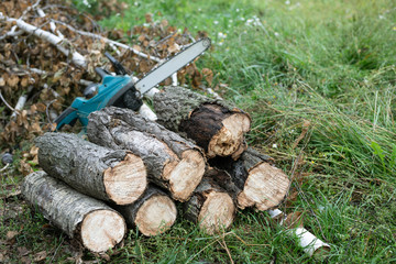
[[164, 63], [160, 63], [138, 81], [127, 74], [124, 67], [114, 57], [106, 53], [116, 75], [97, 67], [95, 72], [101, 77], [101, 84], [89, 85], [84, 91], [84, 97], [77, 97], [72, 106], [61, 113], [55, 120], [56, 130], [61, 130], [65, 124], [74, 125], [77, 120], [87, 127], [89, 113], [109, 106], [138, 111], [143, 105], [142, 98], [145, 92], [193, 62], [209, 47], [208, 37], [194, 42]]

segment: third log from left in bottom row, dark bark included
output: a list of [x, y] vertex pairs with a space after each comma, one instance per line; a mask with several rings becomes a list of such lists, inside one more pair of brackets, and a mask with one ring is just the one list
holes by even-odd
[[212, 178], [204, 176], [191, 198], [184, 204], [185, 218], [199, 224], [209, 234], [228, 229], [235, 215], [229, 194]]

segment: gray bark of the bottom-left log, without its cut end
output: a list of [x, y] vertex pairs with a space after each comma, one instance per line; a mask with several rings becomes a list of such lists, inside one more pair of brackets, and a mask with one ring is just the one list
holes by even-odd
[[[70, 238], [81, 239], [82, 220], [89, 213], [98, 210], [114, 212], [113, 217], [123, 222], [124, 232], [127, 231], [122, 217], [109, 206], [72, 189], [43, 170], [28, 175], [22, 183], [21, 191], [24, 198], [37, 208], [47, 220]], [[108, 232], [111, 233], [112, 230], [108, 230]], [[84, 244], [87, 246], [86, 243]], [[92, 248], [88, 249], [96, 251]]]

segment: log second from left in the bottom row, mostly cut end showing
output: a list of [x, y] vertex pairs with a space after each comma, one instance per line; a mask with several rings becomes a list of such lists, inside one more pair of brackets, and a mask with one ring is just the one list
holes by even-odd
[[148, 186], [143, 196], [132, 205], [116, 208], [131, 227], [138, 227], [144, 235], [156, 235], [168, 230], [175, 222], [175, 202], [162, 190]]

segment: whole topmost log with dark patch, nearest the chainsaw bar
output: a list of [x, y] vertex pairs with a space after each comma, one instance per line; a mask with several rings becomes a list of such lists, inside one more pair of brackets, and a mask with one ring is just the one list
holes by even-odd
[[243, 135], [250, 130], [251, 119], [240, 109], [183, 87], [166, 87], [153, 100], [157, 122], [194, 140], [209, 158], [237, 160], [245, 150]]

